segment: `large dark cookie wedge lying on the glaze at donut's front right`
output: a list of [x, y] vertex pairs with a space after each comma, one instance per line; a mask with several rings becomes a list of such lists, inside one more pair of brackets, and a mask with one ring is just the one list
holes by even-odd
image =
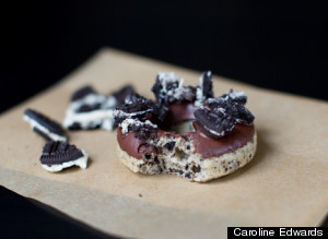
[[200, 108], [195, 111], [197, 124], [212, 139], [218, 140], [232, 131], [236, 124], [234, 117], [225, 113], [223, 110], [215, 108]]

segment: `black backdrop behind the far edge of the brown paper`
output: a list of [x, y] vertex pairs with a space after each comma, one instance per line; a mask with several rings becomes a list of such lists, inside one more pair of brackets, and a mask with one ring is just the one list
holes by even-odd
[[12, 1], [2, 8], [0, 93], [7, 97], [0, 111], [54, 84], [103, 46], [328, 99], [325, 5], [213, 2]]

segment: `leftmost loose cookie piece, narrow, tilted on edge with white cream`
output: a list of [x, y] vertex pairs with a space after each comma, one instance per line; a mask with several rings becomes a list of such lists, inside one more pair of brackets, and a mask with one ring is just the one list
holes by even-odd
[[45, 115], [33, 109], [26, 109], [23, 119], [31, 124], [38, 135], [47, 141], [67, 141], [62, 127]]

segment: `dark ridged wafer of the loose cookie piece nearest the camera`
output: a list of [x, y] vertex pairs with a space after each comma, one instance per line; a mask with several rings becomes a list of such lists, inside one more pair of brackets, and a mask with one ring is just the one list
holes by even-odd
[[70, 145], [67, 142], [49, 141], [45, 145], [39, 160], [44, 165], [51, 166], [75, 160], [83, 156], [82, 151], [77, 148], [75, 145]]

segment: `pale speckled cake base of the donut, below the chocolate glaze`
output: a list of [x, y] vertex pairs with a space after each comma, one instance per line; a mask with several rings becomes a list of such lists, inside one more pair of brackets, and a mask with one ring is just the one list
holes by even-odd
[[219, 157], [202, 159], [200, 154], [189, 154], [187, 159], [177, 156], [157, 155], [156, 159], [134, 158], [127, 154], [118, 145], [117, 152], [120, 160], [133, 172], [143, 175], [169, 174], [177, 175], [190, 181], [207, 182], [212, 179], [232, 174], [249, 163], [256, 152], [257, 135], [253, 136], [243, 147], [233, 153], [226, 153]]

